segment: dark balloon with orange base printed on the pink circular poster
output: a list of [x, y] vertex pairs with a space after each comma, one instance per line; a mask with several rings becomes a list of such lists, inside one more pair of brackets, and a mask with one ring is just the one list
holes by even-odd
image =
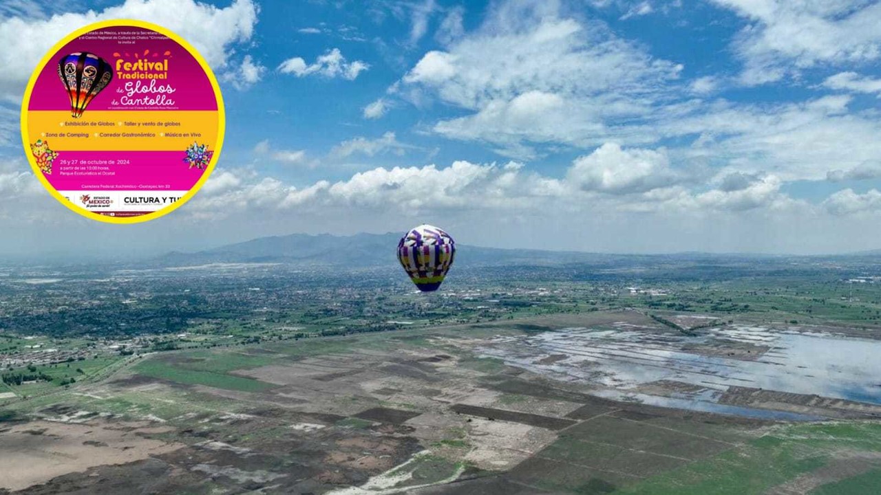
[[70, 116], [78, 118], [95, 95], [110, 84], [113, 70], [100, 56], [77, 52], [61, 57], [58, 77], [70, 95]]

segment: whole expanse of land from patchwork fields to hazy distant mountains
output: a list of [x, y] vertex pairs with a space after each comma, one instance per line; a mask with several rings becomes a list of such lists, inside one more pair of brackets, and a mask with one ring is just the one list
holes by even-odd
[[3, 267], [0, 492], [877, 493], [877, 254], [389, 239]]

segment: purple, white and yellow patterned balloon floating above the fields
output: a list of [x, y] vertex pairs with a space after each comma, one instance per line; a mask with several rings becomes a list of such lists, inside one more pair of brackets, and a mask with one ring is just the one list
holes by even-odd
[[419, 225], [397, 243], [397, 259], [422, 292], [437, 291], [455, 257], [455, 241], [433, 225]]

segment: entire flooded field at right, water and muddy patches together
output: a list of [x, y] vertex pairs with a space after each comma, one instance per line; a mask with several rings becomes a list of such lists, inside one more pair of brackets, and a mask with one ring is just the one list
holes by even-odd
[[479, 351], [622, 401], [776, 419], [881, 416], [881, 341], [811, 329], [685, 336], [619, 321], [500, 336]]

